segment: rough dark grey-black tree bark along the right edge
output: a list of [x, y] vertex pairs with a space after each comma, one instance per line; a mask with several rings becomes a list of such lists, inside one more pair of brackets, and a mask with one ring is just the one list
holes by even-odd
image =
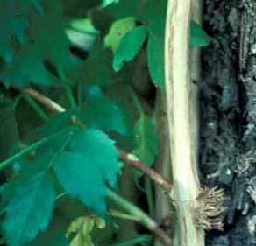
[[256, 245], [256, 1], [205, 0], [204, 28], [214, 38], [203, 50], [201, 181], [224, 188], [224, 231], [206, 245]]

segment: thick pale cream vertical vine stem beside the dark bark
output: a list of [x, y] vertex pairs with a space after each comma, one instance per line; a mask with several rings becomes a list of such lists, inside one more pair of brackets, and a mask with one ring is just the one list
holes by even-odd
[[165, 42], [167, 116], [177, 212], [174, 245], [203, 246], [203, 229], [196, 225], [199, 180], [196, 167], [196, 104], [189, 73], [191, 0], [169, 0]]

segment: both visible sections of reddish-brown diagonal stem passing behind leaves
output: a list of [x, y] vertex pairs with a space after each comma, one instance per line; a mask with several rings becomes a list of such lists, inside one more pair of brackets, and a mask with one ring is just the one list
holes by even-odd
[[[46, 95], [42, 95], [32, 88], [25, 88], [21, 92], [22, 94], [30, 95], [32, 98], [43, 104], [47, 109], [54, 113], [62, 113], [66, 111], [66, 109], [60, 106], [57, 102], [54, 102], [49, 97], [46, 97]], [[152, 168], [146, 166], [133, 154], [127, 153], [118, 147], [117, 150], [119, 151], [120, 158], [124, 160], [125, 163], [139, 169], [140, 172], [146, 174], [146, 176], [152, 179], [157, 185], [160, 185], [167, 193], [171, 192], [172, 186], [167, 179], [162, 177], [158, 172], [155, 172]]]

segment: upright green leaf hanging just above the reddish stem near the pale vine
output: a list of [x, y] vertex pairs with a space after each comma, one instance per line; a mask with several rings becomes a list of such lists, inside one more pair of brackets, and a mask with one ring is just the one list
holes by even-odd
[[134, 126], [136, 148], [133, 153], [146, 165], [153, 165], [158, 155], [158, 137], [150, 117], [143, 113]]

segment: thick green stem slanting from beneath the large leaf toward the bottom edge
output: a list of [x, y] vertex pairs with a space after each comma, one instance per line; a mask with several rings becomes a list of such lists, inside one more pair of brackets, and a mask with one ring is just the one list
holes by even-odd
[[108, 189], [107, 197], [117, 205], [117, 207], [122, 208], [126, 213], [132, 214], [133, 216], [138, 218], [138, 221], [144, 225], [148, 230], [153, 232], [154, 235], [160, 238], [161, 242], [165, 245], [172, 245], [172, 240], [169, 238], [167, 233], [163, 231], [159, 225], [153, 221], [145, 212], [133, 205], [130, 201], [124, 200], [117, 193], [114, 193], [110, 189]]

